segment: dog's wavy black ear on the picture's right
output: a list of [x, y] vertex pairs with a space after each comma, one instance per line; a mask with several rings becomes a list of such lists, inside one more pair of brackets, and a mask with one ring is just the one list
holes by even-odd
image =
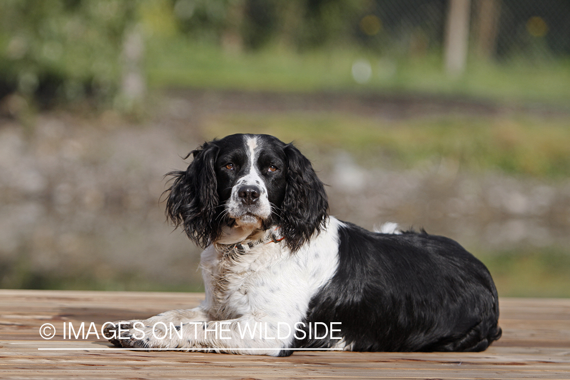
[[315, 232], [324, 228], [328, 213], [327, 193], [311, 161], [292, 144], [287, 157], [287, 187], [281, 204], [280, 234], [292, 251], [298, 250]]

